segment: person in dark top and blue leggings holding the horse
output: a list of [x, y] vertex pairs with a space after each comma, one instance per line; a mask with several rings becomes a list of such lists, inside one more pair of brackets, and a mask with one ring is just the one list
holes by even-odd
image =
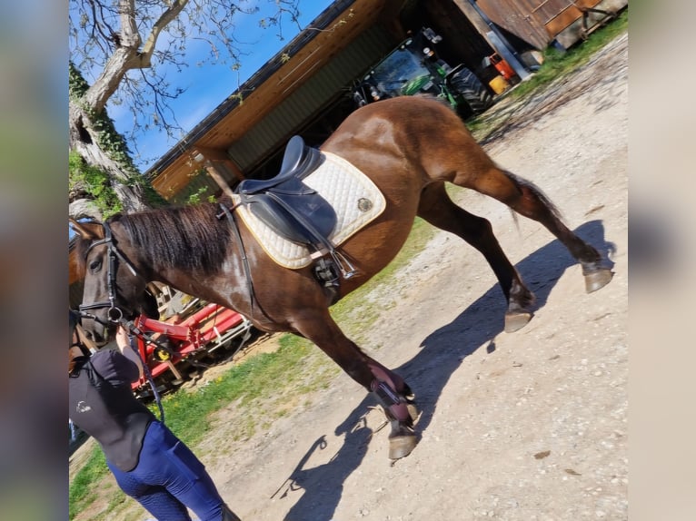
[[70, 310], [69, 418], [94, 437], [119, 487], [159, 521], [241, 521], [201, 461], [134, 397], [140, 356], [119, 326], [116, 349], [87, 349]]

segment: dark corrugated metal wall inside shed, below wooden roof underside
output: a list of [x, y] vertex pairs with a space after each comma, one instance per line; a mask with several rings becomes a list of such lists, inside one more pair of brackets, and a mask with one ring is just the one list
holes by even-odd
[[365, 31], [328, 63], [319, 64], [321, 68], [306, 84], [235, 142], [228, 149], [232, 160], [246, 172], [394, 45], [378, 26]]

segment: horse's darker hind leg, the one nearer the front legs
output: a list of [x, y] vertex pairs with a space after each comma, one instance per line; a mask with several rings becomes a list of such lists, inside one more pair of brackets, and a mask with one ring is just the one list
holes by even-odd
[[454, 204], [445, 192], [443, 182], [430, 184], [423, 190], [418, 215], [433, 226], [458, 235], [481, 251], [508, 301], [505, 311], [506, 332], [516, 331], [532, 319], [534, 295], [505, 256], [489, 221]]

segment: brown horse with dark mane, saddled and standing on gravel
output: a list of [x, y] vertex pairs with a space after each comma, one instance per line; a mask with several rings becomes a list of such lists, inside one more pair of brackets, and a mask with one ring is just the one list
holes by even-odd
[[235, 218], [227, 195], [218, 202], [74, 223], [85, 262], [81, 309], [93, 313], [93, 319], [83, 319], [88, 334], [97, 342], [113, 335], [119, 319], [137, 312], [145, 284], [157, 280], [232, 308], [258, 329], [309, 339], [374, 393], [391, 424], [389, 457], [398, 459], [418, 441], [413, 390], [345, 336], [330, 306], [392, 261], [417, 215], [482, 253], [507, 300], [506, 331], [522, 328], [533, 315], [532, 291], [505, 256], [491, 223], [452, 202], [446, 182], [540, 222], [582, 264], [587, 292], [611, 280], [608, 261], [569, 230], [542, 190], [493, 162], [462, 120], [436, 99], [398, 97], [365, 105], [339, 125], [319, 152], [353, 164], [385, 200], [383, 212], [340, 245], [343, 259], [351, 261], [340, 283], [328, 287], [311, 266], [289, 269], [271, 260], [244, 221]]

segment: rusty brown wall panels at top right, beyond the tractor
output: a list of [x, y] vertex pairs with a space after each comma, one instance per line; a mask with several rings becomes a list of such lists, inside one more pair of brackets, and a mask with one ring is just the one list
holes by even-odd
[[[601, 0], [478, 0], [491, 20], [538, 49], [544, 49], [580, 16], [578, 7], [594, 7]], [[560, 24], [554, 21], [562, 21]]]

